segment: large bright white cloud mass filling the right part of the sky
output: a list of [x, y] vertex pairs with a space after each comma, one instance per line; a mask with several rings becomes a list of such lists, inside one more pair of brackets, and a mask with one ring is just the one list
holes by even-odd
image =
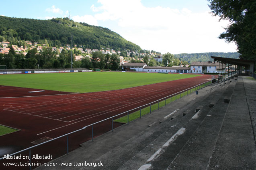
[[138, 44], [143, 49], [171, 52], [234, 52], [235, 44], [218, 38], [228, 22], [212, 16], [209, 11], [195, 13], [157, 6], [147, 8], [141, 0], [98, 0], [91, 6], [94, 22], [114, 21], [119, 27], [110, 28]]

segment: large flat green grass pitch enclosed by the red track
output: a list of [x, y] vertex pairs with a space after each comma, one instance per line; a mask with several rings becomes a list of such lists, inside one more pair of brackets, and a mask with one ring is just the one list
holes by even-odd
[[77, 72], [45, 74], [2, 74], [0, 85], [63, 92], [98, 92], [190, 78], [194, 74], [128, 72]]

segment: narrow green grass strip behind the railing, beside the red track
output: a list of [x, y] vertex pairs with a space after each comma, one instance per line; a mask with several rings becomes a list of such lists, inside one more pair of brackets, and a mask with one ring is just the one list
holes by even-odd
[[[200, 85], [200, 87], [202, 88], [209, 84], [211, 84], [211, 82], [204, 83], [204, 84]], [[199, 86], [198, 86], [198, 89], [199, 89]], [[194, 88], [194, 92], [196, 90], [197, 90], [197, 87]], [[178, 100], [184, 96], [187, 96], [190, 93], [193, 93], [193, 89], [191, 89], [191, 92], [190, 92], [190, 90], [187, 90], [187, 91], [181, 92], [180, 94], [177, 94], [176, 96], [172, 96], [172, 98], [168, 97], [168, 98], [166, 98], [166, 101], [162, 100], [159, 102], [159, 108], [165, 106], [165, 104], [169, 104], [171, 102], [171, 100], [172, 100], [172, 102], [175, 102], [176, 100]], [[158, 103], [151, 105], [151, 112], [153, 112], [154, 110], [157, 110], [157, 109], [158, 109]], [[141, 116], [148, 114], [148, 113], [150, 113], [150, 106], [147, 106], [146, 108], [141, 109]], [[139, 117], [140, 117], [140, 110], [133, 112], [133, 113], [129, 114], [129, 122], [131, 122], [132, 120], [135, 120]], [[127, 115], [114, 120], [114, 122], [127, 123]]]

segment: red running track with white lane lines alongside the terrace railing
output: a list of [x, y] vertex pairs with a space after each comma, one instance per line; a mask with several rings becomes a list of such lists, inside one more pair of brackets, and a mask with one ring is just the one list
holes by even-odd
[[[21, 130], [0, 136], [0, 157], [33, 146], [35, 144], [31, 142], [45, 136], [56, 138], [209, 80], [211, 75], [203, 75], [113, 91], [0, 98], [0, 124]], [[20, 90], [22, 89], [24, 88]], [[114, 126], [120, 124], [115, 123]], [[109, 130], [111, 130], [111, 120], [104, 121], [94, 125], [94, 136]], [[91, 138], [91, 128], [83, 131], [70, 136], [69, 140], [72, 141], [69, 144], [70, 150], [78, 148], [79, 144]], [[51, 153], [56, 158], [66, 153], [65, 141], [66, 139], [61, 139], [49, 142], [32, 152]], [[23, 155], [25, 154], [27, 153]]]

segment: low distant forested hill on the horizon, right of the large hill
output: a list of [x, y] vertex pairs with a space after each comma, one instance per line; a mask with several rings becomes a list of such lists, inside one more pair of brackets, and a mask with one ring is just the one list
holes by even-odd
[[240, 54], [238, 52], [206, 52], [193, 54], [182, 53], [175, 54], [174, 56], [180, 58], [180, 60], [182, 61], [187, 61], [191, 64], [191, 62], [195, 61], [213, 61], [213, 58], [211, 58], [211, 56], [239, 59]]

